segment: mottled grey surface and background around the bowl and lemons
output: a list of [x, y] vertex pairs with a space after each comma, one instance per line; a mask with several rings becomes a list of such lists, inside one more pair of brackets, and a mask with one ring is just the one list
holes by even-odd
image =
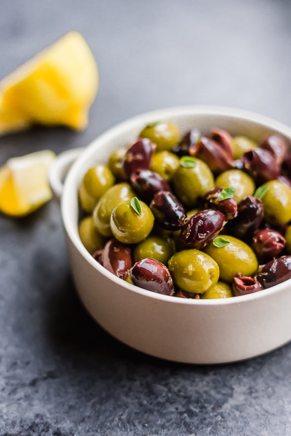
[[[0, 0], [0, 76], [72, 29], [100, 70], [88, 129], [1, 138], [0, 164], [85, 146], [131, 115], [176, 105], [240, 107], [291, 125], [288, 0]], [[118, 343], [75, 295], [58, 205], [0, 217], [1, 436], [291, 435], [290, 392], [291, 345], [191, 366]]]

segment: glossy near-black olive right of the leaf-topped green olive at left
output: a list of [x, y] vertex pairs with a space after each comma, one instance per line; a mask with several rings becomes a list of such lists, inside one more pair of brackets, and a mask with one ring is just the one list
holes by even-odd
[[169, 191], [157, 192], [149, 207], [156, 222], [167, 230], [180, 229], [187, 216], [177, 197]]

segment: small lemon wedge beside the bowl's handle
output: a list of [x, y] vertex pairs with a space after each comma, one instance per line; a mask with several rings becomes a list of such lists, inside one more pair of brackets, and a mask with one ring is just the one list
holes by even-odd
[[12, 157], [0, 168], [0, 211], [12, 217], [33, 212], [52, 197], [49, 167], [56, 155], [42, 150]]

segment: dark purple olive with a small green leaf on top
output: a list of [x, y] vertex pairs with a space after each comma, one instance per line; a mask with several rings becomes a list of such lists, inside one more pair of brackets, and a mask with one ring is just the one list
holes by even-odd
[[223, 200], [222, 191], [226, 192], [226, 189], [223, 187], [210, 189], [203, 198], [204, 207], [219, 210], [224, 214], [226, 221], [229, 221], [237, 216], [238, 205], [234, 197]]

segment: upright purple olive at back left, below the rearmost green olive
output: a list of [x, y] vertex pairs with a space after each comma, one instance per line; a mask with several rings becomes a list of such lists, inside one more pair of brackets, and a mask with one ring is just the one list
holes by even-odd
[[154, 144], [147, 138], [138, 140], [127, 150], [123, 160], [123, 172], [127, 179], [134, 171], [148, 170], [151, 156], [155, 150]]

